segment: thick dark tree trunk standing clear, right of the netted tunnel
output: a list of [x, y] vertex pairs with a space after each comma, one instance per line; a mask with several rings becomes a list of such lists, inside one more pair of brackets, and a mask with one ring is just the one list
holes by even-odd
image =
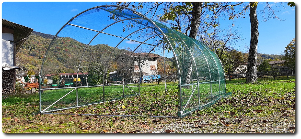
[[250, 2], [251, 40], [247, 65], [246, 83], [257, 82], [257, 44], [258, 44], [258, 20], [256, 14], [256, 2]]

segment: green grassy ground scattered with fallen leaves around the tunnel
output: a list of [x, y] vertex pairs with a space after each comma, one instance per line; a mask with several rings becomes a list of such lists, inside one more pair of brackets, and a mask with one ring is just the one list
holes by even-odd
[[[165, 95], [163, 85], [153, 84], [154, 86], [151, 87], [141, 87], [141, 95], [138, 96], [133, 95], [118, 101], [56, 112], [76, 115], [35, 115], [39, 111], [39, 95], [9, 96], [2, 100], [2, 131], [4, 133], [165, 133], [169, 129], [171, 133], [293, 133], [295, 131], [295, 79], [258, 80], [254, 84], [245, 84], [245, 79], [226, 81], [227, 92], [232, 92], [231, 96], [222, 98], [212, 106], [197, 110], [182, 119], [78, 115], [85, 113], [177, 116], [178, 89], [173, 83], [169, 84], [169, 95]], [[89, 96], [93, 97], [87, 97], [88, 95], [78, 91], [79, 96], [82, 96], [79, 98], [85, 99], [79, 103], [86, 103], [88, 98], [89, 101], [90, 98], [94, 98], [92, 101], [103, 98], [103, 95], [96, 93], [102, 92], [102, 89], [96, 92], [93, 90], [95, 89], [88, 91], [91, 92]], [[67, 91], [66, 89], [66, 93]], [[113, 94], [117, 95], [114, 97], [122, 97], [122, 90], [121, 93], [120, 89], [116, 89], [115, 92]], [[135, 93], [131, 92], [127, 95], [131, 94]], [[44, 97], [49, 98], [46, 97], [46, 93]], [[70, 98], [73, 99], [74, 95], [70, 95]], [[62, 102], [67, 104], [67, 100], [66, 98]], [[74, 102], [70, 102], [70, 106], [74, 105], [72, 103]], [[54, 106], [54, 108], [60, 107], [62, 106]]]

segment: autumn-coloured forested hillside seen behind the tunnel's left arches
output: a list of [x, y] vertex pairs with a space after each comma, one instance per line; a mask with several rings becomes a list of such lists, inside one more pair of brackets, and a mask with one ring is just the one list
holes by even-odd
[[[17, 53], [17, 65], [26, 65], [27, 70], [30, 69], [38, 73], [45, 52], [53, 37], [54, 35], [33, 31]], [[68, 37], [57, 37], [52, 43], [53, 47], [50, 48], [46, 55], [47, 60], [43, 71], [48, 73], [59, 70], [62, 70], [61, 72], [77, 71], [82, 51], [84, 51], [86, 45]], [[104, 65], [113, 49], [114, 47], [110, 47], [107, 44], [89, 46], [82, 59], [82, 71], [88, 71], [88, 64], [91, 61]], [[129, 53], [129, 51], [116, 48], [110, 59], [115, 59], [122, 53]], [[172, 66], [172, 62], [172, 58], [166, 58], [166, 63], [170, 66]], [[113, 60], [110, 60], [109, 63], [114, 65]], [[163, 57], [158, 59], [158, 64], [163, 65]], [[109, 70], [115, 70], [114, 66], [110, 67]]]

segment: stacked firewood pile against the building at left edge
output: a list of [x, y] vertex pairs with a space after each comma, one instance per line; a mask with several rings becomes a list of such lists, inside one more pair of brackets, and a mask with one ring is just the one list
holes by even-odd
[[15, 94], [16, 69], [4, 70], [2, 68], [2, 96]]

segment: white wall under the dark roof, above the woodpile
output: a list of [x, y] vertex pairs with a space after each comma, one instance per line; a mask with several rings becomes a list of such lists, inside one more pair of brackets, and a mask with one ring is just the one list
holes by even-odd
[[[14, 46], [13, 46], [14, 34], [2, 33], [2, 63], [1, 66], [8, 64], [8, 66], [14, 65]], [[8, 42], [10, 41], [10, 42]]]

